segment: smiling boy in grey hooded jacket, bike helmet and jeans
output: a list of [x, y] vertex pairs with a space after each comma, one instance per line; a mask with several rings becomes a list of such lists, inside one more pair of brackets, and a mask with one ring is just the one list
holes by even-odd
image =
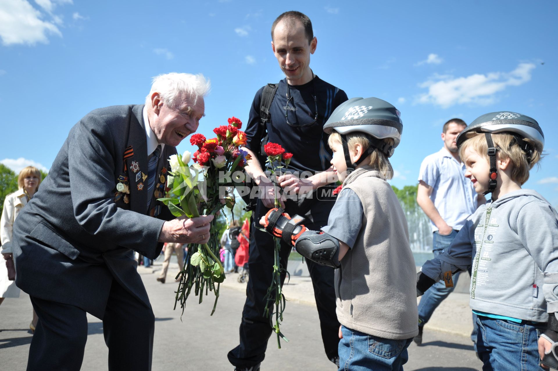
[[465, 128], [457, 144], [465, 176], [479, 194], [492, 193], [492, 202], [422, 266], [417, 296], [440, 279], [451, 287], [451, 274], [472, 266], [483, 370], [536, 370], [539, 356], [556, 368], [558, 214], [540, 194], [521, 189], [541, 158], [542, 130], [531, 117], [493, 112]]

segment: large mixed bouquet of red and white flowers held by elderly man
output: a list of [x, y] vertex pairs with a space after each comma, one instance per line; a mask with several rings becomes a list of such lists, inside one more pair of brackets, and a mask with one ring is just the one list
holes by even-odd
[[[215, 128], [217, 137], [206, 139], [202, 134], [190, 137], [190, 143], [198, 146], [198, 151], [191, 155], [186, 151], [183, 156], [170, 157], [171, 172], [167, 178], [167, 197], [159, 199], [169, 207], [175, 216], [196, 218], [200, 215], [216, 215], [227, 205], [234, 206], [232, 187], [235, 182], [230, 174], [243, 170], [250, 159], [240, 146], [246, 144], [246, 134], [240, 131], [242, 122], [238, 118], [229, 118], [229, 124]], [[194, 161], [189, 165], [190, 160]], [[224, 200], [224, 201], [223, 201]], [[176, 291], [176, 304], [180, 302], [182, 313], [192, 288], [201, 303], [208, 291], [215, 294], [211, 315], [217, 307], [219, 285], [225, 280], [223, 266], [219, 256], [219, 230], [217, 218], [211, 221], [210, 238], [206, 244], [189, 244], [188, 256], [184, 269], [176, 276], [180, 277]], [[215, 284], [217, 283], [217, 287]]]

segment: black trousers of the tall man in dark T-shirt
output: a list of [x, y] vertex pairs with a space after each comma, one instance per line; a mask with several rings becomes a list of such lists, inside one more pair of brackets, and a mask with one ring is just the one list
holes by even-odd
[[[259, 213], [251, 225], [250, 253], [248, 258], [248, 283], [246, 287], [246, 303], [242, 311], [240, 323], [240, 344], [229, 351], [229, 362], [235, 367], [244, 368], [256, 365], [265, 357], [267, 340], [272, 334], [270, 319], [263, 316], [266, 307], [266, 292], [271, 285], [273, 267], [273, 238], [271, 235], [254, 228], [259, 225]], [[290, 215], [294, 215], [290, 213]], [[319, 230], [321, 225], [305, 224], [306, 228]], [[292, 246], [281, 242], [281, 265], [287, 267], [288, 256]], [[308, 264], [314, 297], [320, 318], [321, 338], [328, 359], [338, 357], [339, 321], [335, 314], [335, 288], [333, 269], [305, 259]], [[281, 285], [286, 274], [281, 276]], [[275, 308], [275, 305], [274, 305]], [[287, 319], [288, 304], [286, 309]], [[287, 334], [288, 336], [288, 334]]]

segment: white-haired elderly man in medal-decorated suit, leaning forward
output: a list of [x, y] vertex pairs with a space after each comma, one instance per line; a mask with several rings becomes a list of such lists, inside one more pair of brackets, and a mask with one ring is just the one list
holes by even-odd
[[213, 216], [175, 219], [156, 200], [208, 90], [202, 75], [160, 75], [145, 105], [96, 109], [70, 130], [13, 229], [16, 284], [39, 315], [27, 370], [79, 370], [87, 312], [103, 320], [109, 369], [151, 369], [155, 317], [133, 251], [208, 242]]

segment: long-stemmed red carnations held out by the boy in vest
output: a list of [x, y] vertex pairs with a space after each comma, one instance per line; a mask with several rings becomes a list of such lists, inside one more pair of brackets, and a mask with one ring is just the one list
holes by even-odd
[[[292, 153], [285, 153], [285, 148], [281, 147], [280, 144], [277, 143], [267, 143], [263, 146], [263, 150], [266, 152], [267, 160], [266, 163], [269, 164], [271, 168], [271, 175], [273, 178], [275, 176], [281, 176], [281, 169], [283, 168], [282, 163], [285, 162], [284, 168], [288, 167], [288, 164], [291, 162]], [[275, 207], [279, 208], [281, 205], [279, 203], [278, 196], [280, 197], [280, 188], [277, 187], [275, 194]], [[281, 289], [281, 273], [285, 272], [285, 274], [289, 275], [287, 269], [281, 266], [279, 252], [281, 250], [281, 239], [274, 237], [275, 240], [275, 259], [273, 263], [273, 274], [272, 274], [272, 281], [271, 286], [267, 289], [266, 293], [266, 310], [264, 311], [264, 315], [270, 317], [270, 322], [273, 328], [273, 332], [277, 334], [277, 348], [281, 349], [281, 339], [287, 341], [288, 339], [281, 333], [279, 326], [281, 325], [281, 321], [283, 320], [283, 312], [285, 311], [285, 295], [283, 295]], [[275, 311], [270, 307], [275, 304]], [[275, 314], [275, 325], [273, 325], [273, 315]]]

